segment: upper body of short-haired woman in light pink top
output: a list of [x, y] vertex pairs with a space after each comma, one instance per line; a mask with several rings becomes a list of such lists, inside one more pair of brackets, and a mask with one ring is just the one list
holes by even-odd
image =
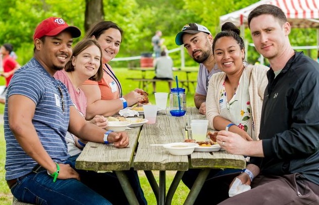
[[[73, 55], [65, 65], [64, 70], [57, 71], [54, 78], [64, 83], [70, 93], [73, 104], [76, 109], [85, 117], [86, 114], [86, 97], [84, 92], [79, 88], [84, 81], [100, 81], [103, 76], [102, 70], [102, 50], [100, 44], [94, 39], [85, 39], [76, 44], [73, 49]], [[104, 116], [96, 115], [92, 123], [105, 128], [108, 123]], [[71, 156], [81, 152], [84, 145], [76, 136], [67, 133], [66, 141], [68, 152]]]

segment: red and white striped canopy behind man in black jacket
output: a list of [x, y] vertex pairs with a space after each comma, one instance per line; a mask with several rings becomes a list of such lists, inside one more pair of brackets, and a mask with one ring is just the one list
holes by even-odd
[[249, 13], [262, 4], [272, 4], [283, 10], [293, 28], [319, 28], [318, 0], [262, 0], [236, 12], [219, 18], [219, 24], [233, 22], [236, 26], [247, 26]]

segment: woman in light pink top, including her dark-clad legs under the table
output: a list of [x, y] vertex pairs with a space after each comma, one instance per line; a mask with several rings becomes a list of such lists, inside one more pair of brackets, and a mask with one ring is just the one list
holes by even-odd
[[[87, 102], [83, 91], [79, 87], [87, 79], [100, 81], [103, 77], [102, 49], [99, 43], [91, 38], [85, 38], [78, 42], [73, 48], [71, 60], [67, 62], [65, 69], [57, 71], [54, 77], [67, 86], [72, 102], [84, 117]], [[102, 128], [106, 128], [108, 125], [106, 117], [101, 115], [96, 115], [90, 122]], [[85, 146], [84, 143], [86, 142], [81, 141], [70, 132], [66, 134], [66, 141], [68, 153], [71, 155], [71, 159], [73, 159], [73, 163], [75, 164], [75, 160], [81, 153]], [[80, 174], [81, 181], [85, 185], [107, 198], [112, 204], [128, 204], [128, 200], [115, 173], [98, 173], [86, 170], [77, 171]], [[124, 172], [135, 191], [139, 204], [147, 204], [140, 185], [138, 173], [133, 169]]]

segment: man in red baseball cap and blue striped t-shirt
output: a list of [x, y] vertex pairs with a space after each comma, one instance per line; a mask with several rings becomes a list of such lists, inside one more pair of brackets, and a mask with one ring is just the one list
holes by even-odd
[[53, 77], [70, 60], [73, 38], [80, 35], [77, 27], [61, 18], [42, 21], [33, 36], [33, 58], [16, 71], [9, 84], [4, 114], [6, 180], [20, 201], [111, 204], [79, 181], [65, 135], [69, 130], [84, 141], [114, 143], [119, 148], [127, 147], [128, 136], [106, 133], [86, 121], [67, 87]]

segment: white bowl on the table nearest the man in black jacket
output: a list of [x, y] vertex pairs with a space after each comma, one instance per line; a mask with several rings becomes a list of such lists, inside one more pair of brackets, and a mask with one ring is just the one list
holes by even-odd
[[171, 155], [190, 155], [194, 152], [194, 149], [198, 147], [197, 143], [169, 143], [163, 145], [163, 147]]

